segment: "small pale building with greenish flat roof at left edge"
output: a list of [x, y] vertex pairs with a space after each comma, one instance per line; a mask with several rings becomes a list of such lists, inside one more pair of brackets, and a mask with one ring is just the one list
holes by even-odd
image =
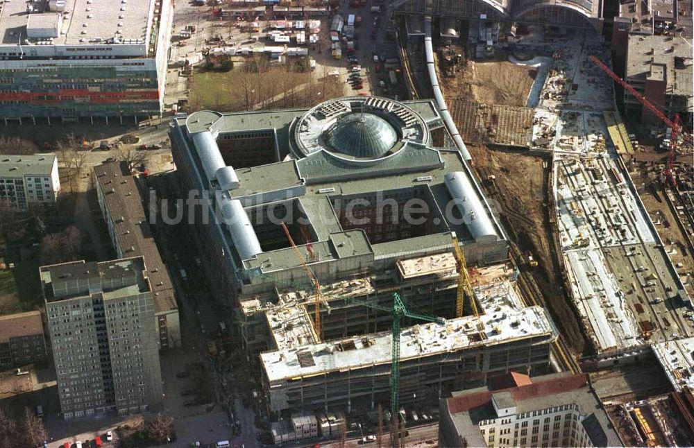
[[56, 155], [0, 155], [0, 200], [6, 205], [26, 210], [55, 204], [59, 193]]

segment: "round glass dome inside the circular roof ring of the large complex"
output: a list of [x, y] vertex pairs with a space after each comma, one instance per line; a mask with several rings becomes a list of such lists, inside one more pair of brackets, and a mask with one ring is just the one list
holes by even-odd
[[343, 117], [328, 130], [328, 144], [338, 153], [359, 159], [377, 159], [398, 141], [398, 133], [388, 121], [369, 113]]

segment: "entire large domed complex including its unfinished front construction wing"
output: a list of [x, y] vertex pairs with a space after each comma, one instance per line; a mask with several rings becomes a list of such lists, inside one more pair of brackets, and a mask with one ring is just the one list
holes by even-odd
[[[457, 318], [458, 267], [503, 262], [508, 245], [431, 101], [195, 112], [174, 121], [171, 141], [181, 195], [205, 198], [193, 233], [210, 283], [237, 309], [248, 352], [265, 352], [272, 411], [380, 401], [393, 293], [413, 312], [456, 318], [403, 320], [403, 399], [408, 381], [439, 393], [446, 381], [548, 363], [555, 332], [539, 309]], [[406, 380], [409, 363], [418, 373]], [[348, 381], [324, 399], [346, 371], [370, 385]]]

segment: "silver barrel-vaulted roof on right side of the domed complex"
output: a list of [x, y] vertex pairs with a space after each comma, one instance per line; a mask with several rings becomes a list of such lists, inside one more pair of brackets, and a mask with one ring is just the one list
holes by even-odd
[[498, 236], [496, 227], [489, 219], [487, 210], [466, 173], [463, 171], [446, 173], [443, 179], [446, 182], [448, 193], [455, 200], [455, 206], [462, 214], [464, 223], [475, 241], [491, 237], [496, 239]]

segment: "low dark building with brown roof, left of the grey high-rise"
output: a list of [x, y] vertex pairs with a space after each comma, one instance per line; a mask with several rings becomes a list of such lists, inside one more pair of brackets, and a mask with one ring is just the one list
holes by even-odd
[[46, 359], [40, 311], [0, 316], [0, 370]]

